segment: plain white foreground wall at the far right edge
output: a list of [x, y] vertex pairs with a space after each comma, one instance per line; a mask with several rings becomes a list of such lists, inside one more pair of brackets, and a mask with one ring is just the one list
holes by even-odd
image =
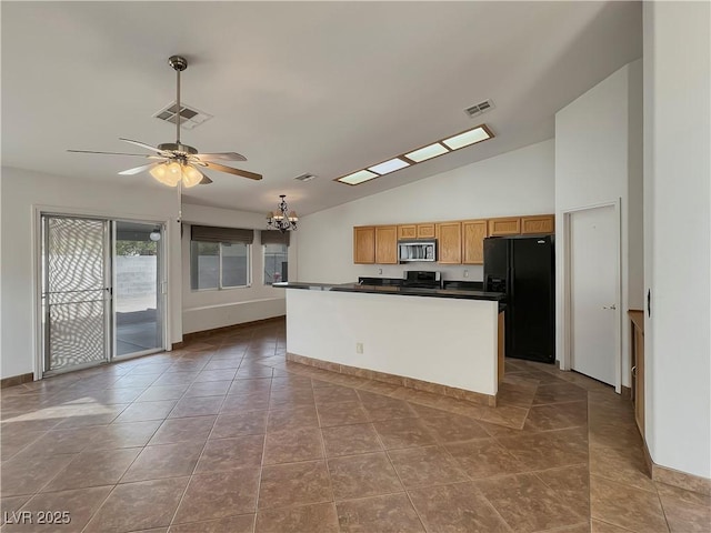
[[711, 477], [711, 4], [643, 9], [645, 439]]

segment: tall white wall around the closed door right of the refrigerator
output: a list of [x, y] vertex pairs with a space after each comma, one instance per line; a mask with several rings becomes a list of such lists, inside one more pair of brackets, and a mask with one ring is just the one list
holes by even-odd
[[[555, 352], [564, 354], [563, 213], [620, 200], [622, 385], [630, 386], [628, 309], [642, 309], [642, 60], [555, 113]], [[611, 302], [612, 303], [612, 302]]]

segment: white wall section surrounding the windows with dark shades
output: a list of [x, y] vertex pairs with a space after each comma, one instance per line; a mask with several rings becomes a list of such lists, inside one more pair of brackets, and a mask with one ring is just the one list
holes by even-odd
[[[183, 333], [211, 330], [254, 320], [281, 316], [286, 313], [284, 289], [263, 284], [263, 253], [259, 231], [251, 247], [252, 283], [250, 286], [221, 291], [193, 291], [190, 286], [190, 224], [266, 230], [263, 214], [229, 209], [183, 204], [182, 301]], [[289, 278], [297, 279], [297, 239], [291, 233]]]

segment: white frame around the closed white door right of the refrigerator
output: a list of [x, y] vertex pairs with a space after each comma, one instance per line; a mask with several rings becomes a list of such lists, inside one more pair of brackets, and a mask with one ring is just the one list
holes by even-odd
[[573, 323], [571, 319], [572, 313], [572, 289], [571, 289], [571, 273], [572, 273], [572, 232], [571, 232], [571, 217], [580, 211], [589, 211], [599, 208], [614, 208], [614, 224], [617, 242], [614, 243], [614, 251], [617, 254], [617, 268], [615, 283], [614, 283], [614, 296], [615, 296], [615, 311], [614, 311], [614, 390], [617, 393], [622, 392], [622, 199], [618, 198], [614, 201], [595, 203], [590, 205], [582, 205], [579, 208], [568, 208], [563, 210], [563, 298], [562, 298], [562, 315], [563, 315], [563, 351], [561, 354], [560, 369], [572, 370], [572, 341], [573, 341]]

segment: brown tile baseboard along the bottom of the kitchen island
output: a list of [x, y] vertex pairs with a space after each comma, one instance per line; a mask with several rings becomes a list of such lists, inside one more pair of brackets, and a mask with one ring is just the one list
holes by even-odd
[[418, 391], [431, 392], [433, 394], [441, 394], [444, 396], [455, 398], [458, 400], [478, 403], [480, 405], [489, 405], [492, 408], [497, 406], [497, 396], [482, 394], [480, 392], [467, 391], [464, 389], [458, 389], [455, 386], [441, 385], [439, 383], [431, 383], [429, 381], [404, 378], [402, 375], [389, 374], [385, 372], [378, 372], [375, 370], [360, 369], [358, 366], [349, 366], [347, 364], [331, 363], [329, 361], [297, 355], [296, 353], [290, 352], [287, 352], [287, 361], [303, 364], [306, 366], [313, 366], [320, 370], [327, 370], [329, 372], [336, 372], [338, 374], [356, 375], [358, 378], [364, 378], [367, 380], [382, 381], [392, 385], [404, 386], [405, 389], [414, 389]]

